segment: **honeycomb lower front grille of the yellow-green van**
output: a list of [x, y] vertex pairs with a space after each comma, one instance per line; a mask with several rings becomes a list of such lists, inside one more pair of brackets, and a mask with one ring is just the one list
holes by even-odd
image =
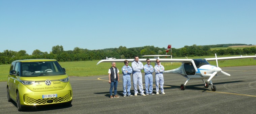
[[[28, 97], [27, 95], [24, 96], [25, 104], [27, 105], [44, 105], [44, 104], [55, 104], [55, 103], [63, 103], [71, 100], [71, 92], [69, 92], [64, 97], [54, 97], [54, 98], [45, 98], [45, 99], [33, 99]], [[47, 101], [52, 100], [52, 103], [47, 103]]]

